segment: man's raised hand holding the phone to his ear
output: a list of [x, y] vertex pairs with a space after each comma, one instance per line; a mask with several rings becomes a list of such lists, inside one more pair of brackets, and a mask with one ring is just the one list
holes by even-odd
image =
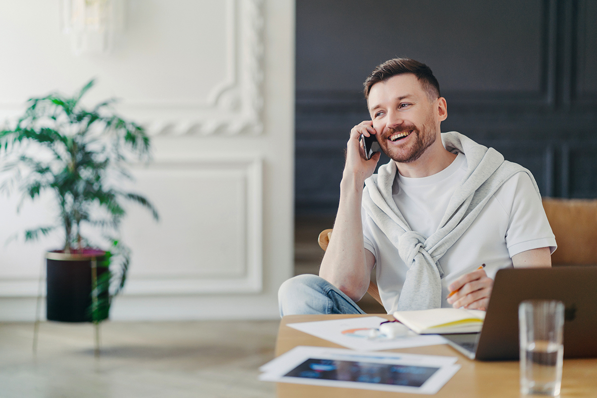
[[346, 146], [346, 165], [344, 166], [344, 176], [354, 176], [359, 181], [365, 181], [371, 177], [375, 171], [380, 153], [376, 152], [371, 159], [365, 159], [365, 153], [359, 142], [361, 134], [370, 137], [376, 134], [372, 121], [363, 121], [350, 130], [350, 138]]

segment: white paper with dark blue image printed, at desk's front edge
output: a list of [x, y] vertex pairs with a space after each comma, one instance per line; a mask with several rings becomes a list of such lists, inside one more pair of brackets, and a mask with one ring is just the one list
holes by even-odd
[[435, 394], [456, 374], [456, 357], [295, 347], [261, 366], [263, 381]]

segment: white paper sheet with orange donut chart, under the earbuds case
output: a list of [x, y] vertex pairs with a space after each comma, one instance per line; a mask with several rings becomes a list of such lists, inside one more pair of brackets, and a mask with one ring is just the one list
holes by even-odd
[[445, 338], [439, 335], [417, 335], [414, 332], [409, 332], [407, 337], [401, 338], [368, 338], [369, 330], [379, 328], [380, 323], [386, 320], [378, 316], [367, 316], [289, 323], [287, 326], [359, 351], [393, 350], [395, 348], [420, 347], [421, 345], [447, 344]]

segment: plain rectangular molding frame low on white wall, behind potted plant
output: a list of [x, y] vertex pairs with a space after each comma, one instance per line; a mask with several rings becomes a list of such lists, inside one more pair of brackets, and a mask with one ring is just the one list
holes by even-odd
[[[137, 167], [138, 169], [141, 166]], [[162, 158], [144, 167], [146, 172], [163, 170], [213, 170], [226, 171], [242, 178], [245, 203], [241, 220], [244, 230], [244, 264], [240, 270], [201, 273], [174, 273], [172, 267], [165, 267], [163, 274], [137, 274], [132, 265], [124, 295], [189, 295], [189, 294], [257, 294], [263, 290], [263, 159], [260, 156], [235, 158]], [[216, 233], [219, 233], [216, 231]], [[226, 239], [222, 236], [221, 239]], [[45, 270], [45, 267], [42, 267]], [[176, 269], [174, 269], [176, 271]], [[45, 271], [43, 271], [45, 273]], [[23, 298], [45, 295], [45, 275], [36, 277], [10, 277], [0, 279], [0, 298]]]

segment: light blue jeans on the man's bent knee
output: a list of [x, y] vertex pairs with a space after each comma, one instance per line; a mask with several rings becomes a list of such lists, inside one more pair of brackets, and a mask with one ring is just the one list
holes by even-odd
[[364, 314], [346, 294], [312, 274], [297, 275], [278, 291], [280, 316], [298, 314]]

